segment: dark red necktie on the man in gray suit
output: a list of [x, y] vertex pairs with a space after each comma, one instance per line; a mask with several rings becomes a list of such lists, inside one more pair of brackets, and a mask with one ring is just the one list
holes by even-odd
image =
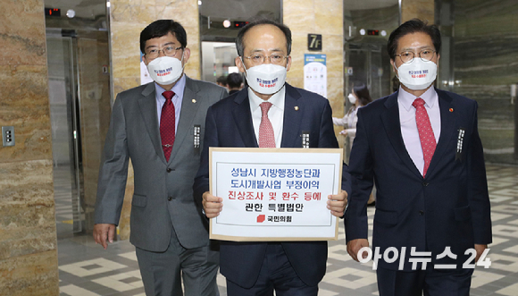
[[166, 161], [169, 161], [174, 144], [175, 118], [174, 105], [171, 101], [174, 92], [171, 90], [164, 91], [162, 96], [165, 97], [165, 103], [163, 103], [162, 114], [160, 115], [160, 138], [162, 139], [163, 156], [165, 156]]

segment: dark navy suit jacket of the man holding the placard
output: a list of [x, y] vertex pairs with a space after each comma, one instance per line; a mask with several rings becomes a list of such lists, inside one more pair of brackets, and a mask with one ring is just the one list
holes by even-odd
[[[202, 194], [209, 190], [209, 147], [258, 147], [248, 90], [242, 89], [211, 106], [205, 124], [205, 147], [194, 187], [200, 203]], [[328, 100], [287, 83], [280, 147], [302, 148], [302, 131], [310, 131], [310, 148], [338, 148]], [[342, 189], [350, 191], [347, 166], [344, 168]], [[322, 280], [328, 252], [326, 241], [287, 241], [281, 244], [303, 282], [316, 285]], [[266, 247], [266, 242], [221, 241], [221, 274], [242, 287], [252, 287], [263, 265]]]

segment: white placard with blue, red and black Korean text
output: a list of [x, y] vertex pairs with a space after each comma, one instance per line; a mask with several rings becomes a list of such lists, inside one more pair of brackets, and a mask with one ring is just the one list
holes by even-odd
[[210, 238], [223, 241], [338, 240], [327, 208], [338, 194], [340, 148], [209, 148], [210, 186], [223, 199]]

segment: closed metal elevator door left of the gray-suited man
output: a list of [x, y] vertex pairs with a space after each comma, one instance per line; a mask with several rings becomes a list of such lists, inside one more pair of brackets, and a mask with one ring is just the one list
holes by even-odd
[[110, 123], [108, 32], [46, 30], [58, 239], [91, 233]]

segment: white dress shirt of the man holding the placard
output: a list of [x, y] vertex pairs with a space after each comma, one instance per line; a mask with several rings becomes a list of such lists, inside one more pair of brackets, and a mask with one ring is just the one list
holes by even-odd
[[248, 88], [248, 98], [250, 99], [250, 111], [252, 112], [252, 123], [254, 123], [255, 139], [259, 142], [259, 125], [261, 125], [261, 103], [270, 102], [272, 107], [268, 110], [268, 119], [272, 123], [273, 136], [275, 137], [275, 148], [280, 148], [282, 141], [282, 125], [284, 124], [284, 98], [286, 88], [282, 87], [277, 93], [273, 94], [267, 101], [257, 97], [254, 91]]

